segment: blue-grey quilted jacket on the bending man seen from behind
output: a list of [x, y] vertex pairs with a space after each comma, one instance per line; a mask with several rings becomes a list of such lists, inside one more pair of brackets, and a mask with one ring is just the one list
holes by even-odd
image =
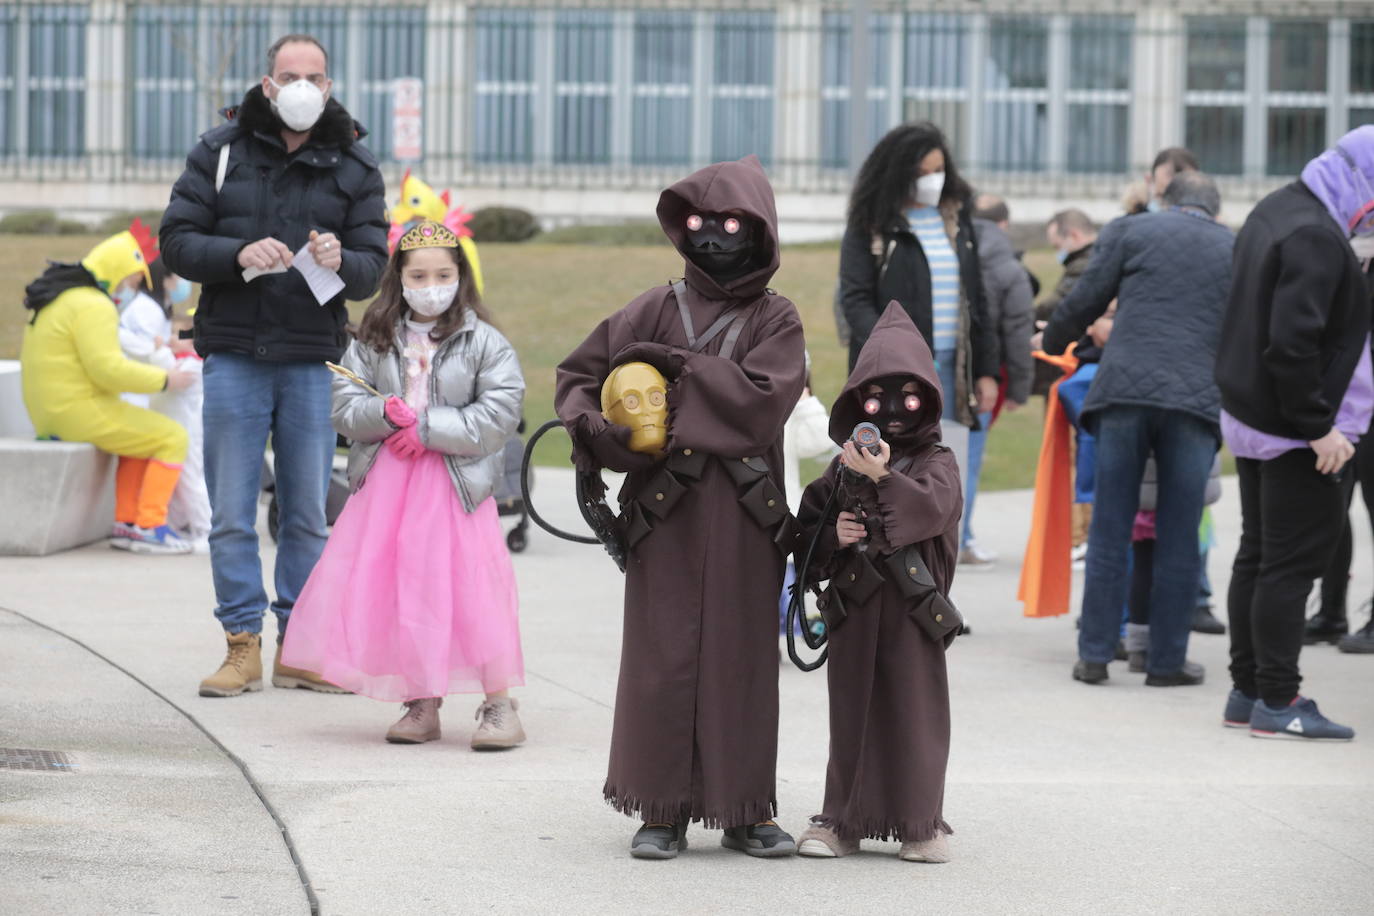
[[1112, 299], [1112, 342], [1083, 402], [1091, 430], [1112, 405], [1183, 411], [1220, 430], [1212, 378], [1235, 236], [1180, 210], [1121, 217], [1098, 236], [1088, 269], [1050, 319], [1046, 353], [1063, 353]]

